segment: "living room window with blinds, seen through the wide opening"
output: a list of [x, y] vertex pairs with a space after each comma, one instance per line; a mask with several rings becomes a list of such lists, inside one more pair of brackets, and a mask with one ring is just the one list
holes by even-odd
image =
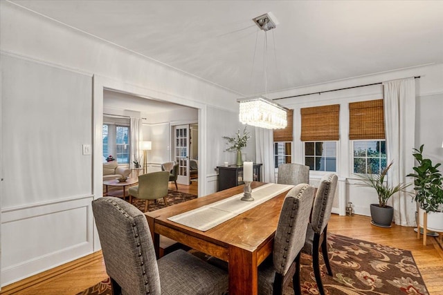
[[129, 164], [129, 126], [103, 124], [103, 156], [112, 155], [119, 164]]

